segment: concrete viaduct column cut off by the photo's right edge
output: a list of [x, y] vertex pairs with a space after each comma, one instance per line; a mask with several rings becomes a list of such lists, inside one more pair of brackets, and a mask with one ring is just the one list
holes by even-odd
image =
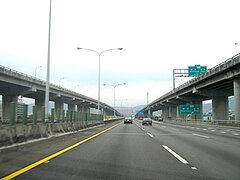
[[234, 89], [234, 113], [235, 120], [240, 120], [240, 79], [234, 79], [233, 81]]

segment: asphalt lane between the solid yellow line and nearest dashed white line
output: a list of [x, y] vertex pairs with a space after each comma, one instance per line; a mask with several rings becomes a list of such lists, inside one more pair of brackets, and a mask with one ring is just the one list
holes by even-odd
[[135, 124], [121, 124], [17, 179], [202, 179], [202, 176]]

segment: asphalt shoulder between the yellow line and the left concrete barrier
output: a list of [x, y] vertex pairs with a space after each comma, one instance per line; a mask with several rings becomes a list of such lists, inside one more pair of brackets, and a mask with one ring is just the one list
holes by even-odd
[[15, 172], [119, 122], [121, 121], [0, 149], [0, 177]]

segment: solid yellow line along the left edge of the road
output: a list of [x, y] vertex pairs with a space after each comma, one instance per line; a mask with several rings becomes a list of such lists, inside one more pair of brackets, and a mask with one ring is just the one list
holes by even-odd
[[[119, 123], [119, 124], [121, 124], [121, 123]], [[97, 136], [99, 136], [99, 135], [101, 135], [101, 134], [103, 134], [103, 133], [105, 133], [105, 132], [115, 128], [119, 124], [116, 124], [116, 125], [114, 125], [114, 126], [112, 126], [110, 128], [107, 128], [107, 129], [105, 129], [105, 130], [103, 130], [103, 131], [101, 131], [101, 132], [99, 132], [99, 133], [97, 133], [97, 134], [95, 134], [95, 135], [93, 135], [93, 136], [91, 136], [91, 137], [89, 137], [87, 139], [84, 139], [84, 140], [82, 140], [82, 141], [80, 141], [80, 142], [78, 142], [78, 143], [76, 143], [76, 144], [74, 144], [72, 146], [69, 146], [69, 147], [67, 147], [67, 148], [65, 148], [65, 149], [63, 149], [63, 150], [61, 150], [61, 151], [59, 151], [59, 152], [57, 152], [55, 154], [52, 154], [52, 155], [50, 155], [48, 157], [45, 157], [44, 159], [41, 159], [41, 160], [39, 160], [39, 161], [37, 161], [37, 162], [35, 162], [33, 164], [30, 164], [30, 165], [26, 166], [25, 168], [22, 168], [22, 169], [14, 172], [12, 174], [9, 174], [6, 177], [3, 177], [1, 180], [9, 180], [9, 179], [15, 178], [15, 177], [17, 177], [17, 176], [19, 176], [19, 175], [29, 171], [30, 169], [33, 169], [33, 168], [39, 166], [40, 164], [48, 162], [51, 159], [53, 159], [53, 158], [55, 158], [55, 157], [65, 153], [65, 152], [67, 152], [67, 151], [69, 151], [69, 150], [71, 150], [71, 149], [73, 149], [73, 148], [75, 148], [75, 147], [77, 147], [77, 146], [79, 146], [79, 145], [81, 145], [81, 144], [83, 144], [83, 143], [85, 143], [85, 142], [87, 142], [87, 141], [89, 141], [89, 140], [91, 140], [91, 139], [93, 139], [93, 138], [95, 138], [95, 137], [97, 137]]]

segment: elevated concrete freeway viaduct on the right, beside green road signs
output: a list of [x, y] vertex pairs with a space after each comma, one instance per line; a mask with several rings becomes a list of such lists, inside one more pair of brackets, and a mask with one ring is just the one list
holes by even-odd
[[164, 119], [184, 119], [181, 105], [197, 104], [200, 113], [192, 119], [202, 119], [202, 102], [212, 100], [213, 120], [229, 119], [228, 97], [234, 96], [235, 119], [240, 120], [240, 54], [209, 69], [145, 106], [141, 111], [151, 114], [162, 110]]

